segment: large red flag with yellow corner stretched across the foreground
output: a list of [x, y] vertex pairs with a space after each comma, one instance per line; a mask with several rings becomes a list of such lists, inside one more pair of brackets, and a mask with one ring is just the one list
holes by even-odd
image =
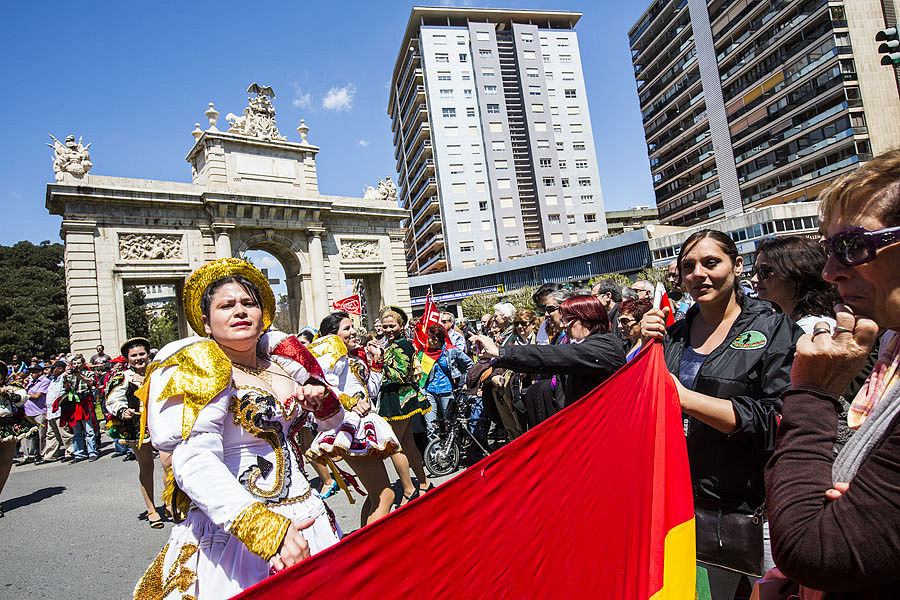
[[678, 392], [652, 343], [580, 402], [236, 600], [691, 599], [694, 536]]

